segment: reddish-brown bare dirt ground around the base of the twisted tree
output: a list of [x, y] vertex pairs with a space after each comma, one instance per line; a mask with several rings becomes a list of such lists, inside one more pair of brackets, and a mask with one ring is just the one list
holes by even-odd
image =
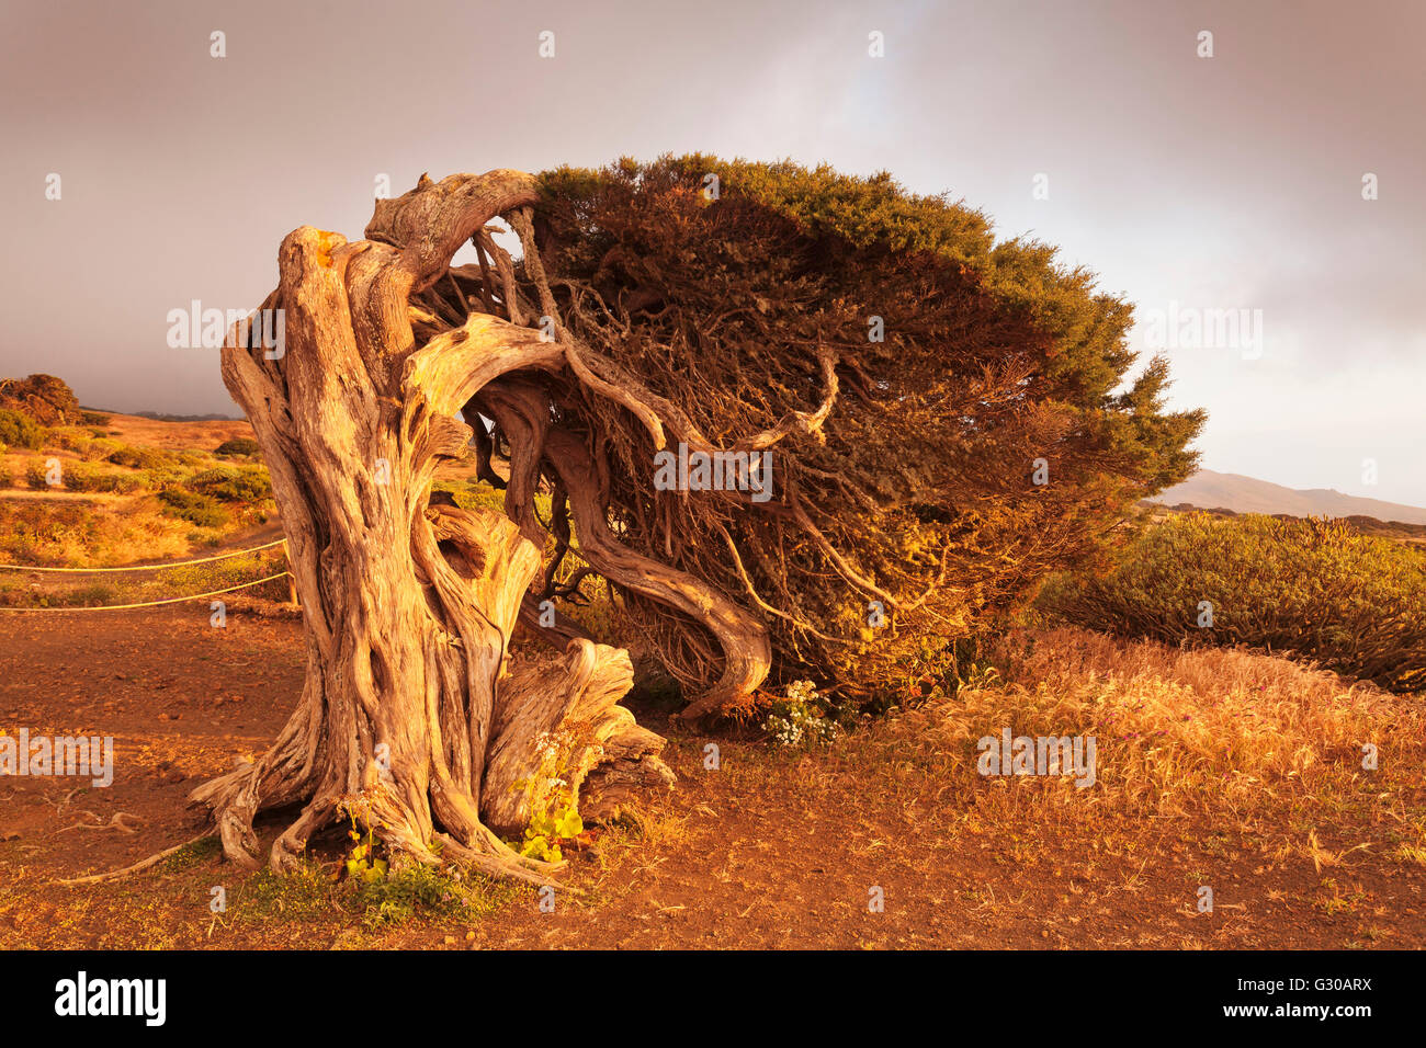
[[[553, 913], [495, 888], [475, 920], [369, 928], [288, 905], [267, 874], [215, 854], [120, 883], [57, 878], [131, 864], [194, 837], [187, 793], [258, 756], [302, 680], [294, 617], [205, 603], [141, 612], [0, 616], [0, 727], [114, 737], [108, 788], [0, 779], [0, 941], [10, 947], [973, 947], [1412, 948], [1426, 945], [1426, 867], [1320, 827], [1342, 860], [1318, 868], [1208, 821], [977, 826], [914, 769], [858, 760], [854, 734], [814, 754], [752, 736], [670, 737], [677, 787], [637, 828], [572, 857]], [[860, 734], [860, 733], [858, 733]], [[714, 741], [720, 767], [704, 770]], [[990, 787], [987, 787], [990, 788]], [[265, 840], [282, 823], [260, 824]], [[1195, 908], [1215, 887], [1212, 914]], [[212, 914], [222, 885], [234, 905]], [[575, 895], [565, 887], [578, 888]], [[880, 897], [878, 911], [873, 901]], [[257, 905], [264, 901], [264, 905]]]

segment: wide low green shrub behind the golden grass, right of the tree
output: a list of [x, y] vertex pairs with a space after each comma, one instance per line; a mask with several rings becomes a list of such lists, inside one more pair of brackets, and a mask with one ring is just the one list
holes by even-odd
[[1175, 515], [1108, 575], [1055, 579], [1040, 607], [1108, 633], [1246, 644], [1393, 692], [1426, 687], [1426, 555], [1340, 520]]

